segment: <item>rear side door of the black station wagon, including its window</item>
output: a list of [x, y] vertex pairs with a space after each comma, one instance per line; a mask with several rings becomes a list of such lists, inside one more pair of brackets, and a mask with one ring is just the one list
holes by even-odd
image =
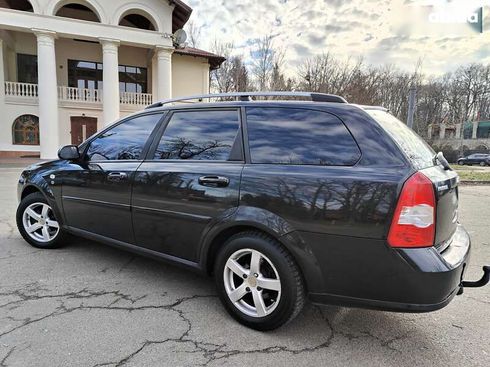
[[238, 206], [239, 109], [169, 113], [133, 184], [136, 243], [196, 262], [200, 239]]

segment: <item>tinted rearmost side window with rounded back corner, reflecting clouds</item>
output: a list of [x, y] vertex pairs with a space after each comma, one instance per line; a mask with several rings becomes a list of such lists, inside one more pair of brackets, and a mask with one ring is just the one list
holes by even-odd
[[361, 153], [337, 117], [299, 108], [247, 108], [252, 163], [350, 166]]

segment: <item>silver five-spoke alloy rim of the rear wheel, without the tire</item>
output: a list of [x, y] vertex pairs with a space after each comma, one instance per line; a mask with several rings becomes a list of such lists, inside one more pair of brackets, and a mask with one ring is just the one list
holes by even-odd
[[279, 273], [272, 261], [257, 250], [234, 252], [225, 264], [223, 280], [230, 301], [248, 316], [270, 315], [281, 299]]

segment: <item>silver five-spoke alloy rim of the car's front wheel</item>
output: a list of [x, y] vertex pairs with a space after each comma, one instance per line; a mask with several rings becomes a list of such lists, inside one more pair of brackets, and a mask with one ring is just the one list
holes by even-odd
[[29, 237], [43, 243], [54, 240], [60, 231], [53, 209], [45, 203], [29, 205], [22, 215], [22, 224]]

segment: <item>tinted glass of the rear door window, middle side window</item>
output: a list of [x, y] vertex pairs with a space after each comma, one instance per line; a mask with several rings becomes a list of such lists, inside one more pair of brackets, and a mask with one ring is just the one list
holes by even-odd
[[227, 160], [238, 129], [235, 110], [175, 112], [155, 159]]

